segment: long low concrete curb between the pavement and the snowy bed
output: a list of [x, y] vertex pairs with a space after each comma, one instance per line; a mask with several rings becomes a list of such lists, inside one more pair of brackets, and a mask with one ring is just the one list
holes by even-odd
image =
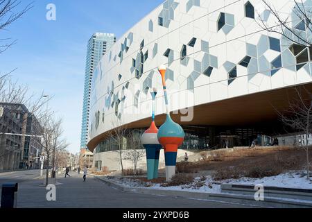
[[277, 207], [277, 208], [311, 208], [312, 202], [302, 202], [297, 200], [286, 200], [278, 198], [265, 198], [263, 201], [254, 200], [254, 196], [241, 195], [241, 194], [211, 194], [191, 191], [179, 191], [179, 190], [164, 190], [164, 189], [149, 189], [145, 187], [124, 187], [116, 182], [107, 180], [103, 177], [94, 176], [97, 180], [105, 182], [106, 185], [126, 192], [136, 192], [139, 194], [149, 194], [157, 196], [173, 196], [182, 198], [192, 198], [198, 200], [212, 200], [223, 201], [227, 203], [236, 203], [241, 205], [252, 205], [254, 207]]

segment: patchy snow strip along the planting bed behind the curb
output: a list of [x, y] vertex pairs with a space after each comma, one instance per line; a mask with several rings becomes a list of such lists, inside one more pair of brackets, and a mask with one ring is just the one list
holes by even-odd
[[271, 176], [266, 178], [239, 178], [231, 180], [214, 181], [211, 176], [198, 177], [189, 185], [180, 185], [173, 187], [162, 187], [162, 184], [153, 184], [150, 182], [142, 182], [141, 180], [133, 180], [130, 178], [115, 178], [109, 177], [110, 180], [119, 183], [125, 187], [146, 187], [148, 189], [166, 189], [166, 190], [180, 190], [193, 192], [207, 192], [220, 193], [221, 184], [239, 184], [239, 185], [263, 185], [264, 187], [292, 187], [301, 189], [312, 189], [312, 182], [306, 180], [300, 172], [283, 173], [278, 176]]

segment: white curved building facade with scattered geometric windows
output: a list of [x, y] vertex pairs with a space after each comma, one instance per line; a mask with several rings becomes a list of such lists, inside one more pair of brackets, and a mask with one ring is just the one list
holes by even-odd
[[[293, 0], [272, 0], [270, 5], [282, 17], [290, 17], [303, 35], [311, 36], [311, 29], [303, 30], [302, 20], [293, 12]], [[312, 7], [311, 1], [304, 1], [304, 6]], [[187, 108], [180, 111], [185, 126], [192, 124], [193, 107], [312, 83], [312, 49], [268, 33], [262, 22], [269, 27], [277, 24], [261, 0], [168, 0], [150, 12], [105, 53], [94, 71], [90, 150], [112, 128], [148, 119], [153, 87], [158, 89], [156, 119], [165, 113], [157, 72], [162, 64], [168, 67], [169, 107]]]

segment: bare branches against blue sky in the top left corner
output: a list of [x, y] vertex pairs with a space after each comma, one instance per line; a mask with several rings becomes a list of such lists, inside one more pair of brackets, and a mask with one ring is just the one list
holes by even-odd
[[[28, 10], [33, 8], [33, 3], [19, 8], [21, 1], [17, 0], [0, 0], [0, 31], [6, 30], [13, 22], [21, 18]], [[15, 44], [16, 40], [10, 38], [0, 39], [0, 54]]]

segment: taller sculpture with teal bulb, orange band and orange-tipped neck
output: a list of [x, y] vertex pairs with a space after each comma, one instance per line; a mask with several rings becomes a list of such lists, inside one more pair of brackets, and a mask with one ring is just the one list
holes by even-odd
[[166, 103], [166, 121], [158, 130], [158, 141], [164, 147], [165, 164], [166, 164], [166, 181], [170, 181], [175, 175], [175, 165], [177, 162], [177, 148], [182, 145], [184, 141], [184, 130], [175, 123], [171, 117], [168, 108], [168, 96], [166, 89], [166, 67], [164, 65], [158, 68], [162, 75], [162, 85], [164, 87], [164, 99]]

